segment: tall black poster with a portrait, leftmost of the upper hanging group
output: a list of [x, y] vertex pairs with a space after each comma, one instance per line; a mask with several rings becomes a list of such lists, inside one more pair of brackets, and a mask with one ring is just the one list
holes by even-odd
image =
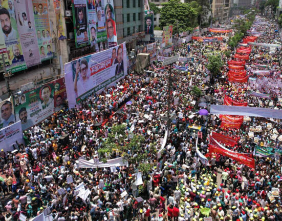
[[89, 45], [89, 29], [86, 12], [86, 0], [73, 0], [73, 23], [75, 47]]

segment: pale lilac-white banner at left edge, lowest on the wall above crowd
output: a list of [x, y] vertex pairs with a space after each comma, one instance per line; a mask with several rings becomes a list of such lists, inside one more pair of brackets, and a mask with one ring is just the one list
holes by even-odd
[[20, 121], [0, 130], [0, 145], [5, 152], [13, 151], [13, 145], [24, 144]]

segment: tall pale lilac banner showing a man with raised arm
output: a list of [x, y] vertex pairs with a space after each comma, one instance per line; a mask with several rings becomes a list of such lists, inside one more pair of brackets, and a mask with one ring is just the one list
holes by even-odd
[[41, 64], [31, 1], [14, 1], [17, 30], [27, 67]]

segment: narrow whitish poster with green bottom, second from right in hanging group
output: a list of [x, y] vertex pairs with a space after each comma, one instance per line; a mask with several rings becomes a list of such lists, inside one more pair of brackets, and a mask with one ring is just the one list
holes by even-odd
[[107, 32], [106, 32], [106, 17], [104, 11], [104, 1], [96, 1], [96, 14], [97, 14], [97, 42], [107, 41]]

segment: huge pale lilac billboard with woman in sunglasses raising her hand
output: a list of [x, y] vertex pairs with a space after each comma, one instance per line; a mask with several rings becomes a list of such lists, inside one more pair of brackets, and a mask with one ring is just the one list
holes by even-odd
[[125, 43], [64, 65], [69, 107], [127, 74]]

